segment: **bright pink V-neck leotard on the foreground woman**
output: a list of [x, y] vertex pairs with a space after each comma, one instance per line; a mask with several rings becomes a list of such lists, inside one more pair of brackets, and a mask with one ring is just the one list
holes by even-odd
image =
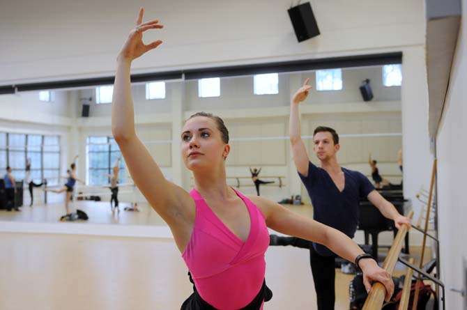
[[196, 218], [190, 242], [182, 254], [201, 298], [222, 310], [241, 309], [257, 296], [264, 281], [264, 253], [269, 245], [263, 213], [250, 199], [235, 192], [250, 213], [247, 240], [243, 242], [232, 233], [199, 192], [192, 189]]

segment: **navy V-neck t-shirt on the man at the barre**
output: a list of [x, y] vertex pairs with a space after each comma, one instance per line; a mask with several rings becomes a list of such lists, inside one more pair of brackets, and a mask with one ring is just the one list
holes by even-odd
[[[298, 176], [302, 179], [309, 197], [312, 199], [313, 219], [345, 233], [353, 238], [358, 226], [360, 197], [366, 197], [374, 190], [374, 186], [366, 176], [358, 171], [342, 168], [345, 185], [339, 191], [329, 173], [309, 162], [308, 175]], [[322, 256], [334, 253], [318, 243], [313, 243], [314, 249]]]

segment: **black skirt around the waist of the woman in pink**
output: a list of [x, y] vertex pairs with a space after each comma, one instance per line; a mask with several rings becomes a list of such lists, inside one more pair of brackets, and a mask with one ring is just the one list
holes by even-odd
[[[194, 286], [190, 272], [188, 272], [188, 275], [190, 276], [190, 282], [193, 284], [193, 293], [187, 298], [187, 300], [185, 300], [185, 302], [183, 302], [181, 310], [217, 310], [201, 298]], [[268, 288], [268, 286], [266, 286], [266, 280], [264, 280], [263, 286], [261, 286], [261, 290], [259, 290], [258, 295], [254, 297], [250, 304], [247, 304], [247, 306], [239, 310], [259, 310], [261, 308], [261, 304], [263, 304], [263, 302], [268, 302], [272, 297], [273, 292]]]

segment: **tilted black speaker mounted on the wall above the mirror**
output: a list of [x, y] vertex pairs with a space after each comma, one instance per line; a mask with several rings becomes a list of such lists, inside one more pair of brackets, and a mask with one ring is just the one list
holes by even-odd
[[319, 35], [318, 24], [316, 24], [312, 6], [309, 2], [289, 8], [289, 17], [298, 42], [302, 42]]

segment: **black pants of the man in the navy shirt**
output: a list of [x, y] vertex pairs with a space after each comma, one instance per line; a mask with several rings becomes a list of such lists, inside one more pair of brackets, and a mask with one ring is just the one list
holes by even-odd
[[312, 242], [300, 238], [293, 238], [290, 245], [309, 249], [309, 265], [312, 268], [318, 310], [334, 310], [336, 256], [321, 256], [316, 253]]

